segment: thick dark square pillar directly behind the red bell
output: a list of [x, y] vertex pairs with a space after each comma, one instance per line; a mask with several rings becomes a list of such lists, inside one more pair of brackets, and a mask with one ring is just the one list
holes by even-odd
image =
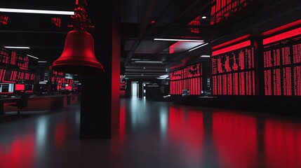
[[119, 130], [120, 0], [87, 0], [87, 13], [105, 72], [82, 76], [80, 138], [110, 139]]

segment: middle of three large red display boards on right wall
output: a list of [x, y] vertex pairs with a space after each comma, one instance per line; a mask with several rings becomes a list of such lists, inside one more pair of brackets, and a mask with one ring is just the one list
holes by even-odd
[[212, 52], [214, 95], [255, 95], [254, 52], [250, 40]]

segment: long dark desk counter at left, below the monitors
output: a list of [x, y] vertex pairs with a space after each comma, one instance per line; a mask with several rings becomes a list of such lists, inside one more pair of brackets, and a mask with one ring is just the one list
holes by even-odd
[[[33, 94], [27, 107], [22, 111], [46, 111], [64, 109], [68, 104], [79, 103], [78, 94], [54, 94], [38, 96]], [[0, 99], [0, 116], [4, 116], [6, 111], [17, 111], [15, 106], [9, 106], [9, 104], [15, 104], [20, 97], [7, 97]]]

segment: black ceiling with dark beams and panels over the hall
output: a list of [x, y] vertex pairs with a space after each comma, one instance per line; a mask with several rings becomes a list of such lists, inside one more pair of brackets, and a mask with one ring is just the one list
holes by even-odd
[[[95, 0], [90, 0], [95, 2]], [[252, 1], [252, 0], [248, 0]], [[256, 1], [256, 0], [253, 0]], [[237, 13], [234, 17], [210, 26], [210, 0], [121, 0], [121, 74], [128, 78], [156, 78], [168, 73], [170, 66], [181, 60], [202, 60], [199, 55], [210, 55], [210, 46], [245, 34], [258, 34], [273, 27], [301, 18], [300, 0], [257, 0], [255, 6]], [[89, 6], [88, 18], [97, 6]], [[98, 3], [105, 4], [104, 1]], [[0, 8], [36, 8], [48, 10], [73, 10], [75, 0], [1, 2]], [[8, 16], [8, 24], [0, 24], [0, 45], [27, 45], [30, 50], [20, 50], [46, 60], [48, 66], [57, 59], [71, 29], [69, 15], [36, 15], [0, 13]], [[199, 15], [206, 15], [200, 25], [189, 25]], [[61, 18], [57, 27], [51, 18]], [[152, 22], [154, 21], [154, 22]], [[93, 20], [91, 20], [93, 23]], [[196, 32], [192, 31], [196, 30]], [[154, 41], [154, 38], [198, 38], [209, 45], [192, 52], [172, 41]], [[170, 50], [173, 46], [173, 52]], [[197, 59], [197, 60], [196, 60]], [[208, 58], [207, 58], [208, 59]], [[163, 61], [162, 64], [134, 63], [135, 60]]]

